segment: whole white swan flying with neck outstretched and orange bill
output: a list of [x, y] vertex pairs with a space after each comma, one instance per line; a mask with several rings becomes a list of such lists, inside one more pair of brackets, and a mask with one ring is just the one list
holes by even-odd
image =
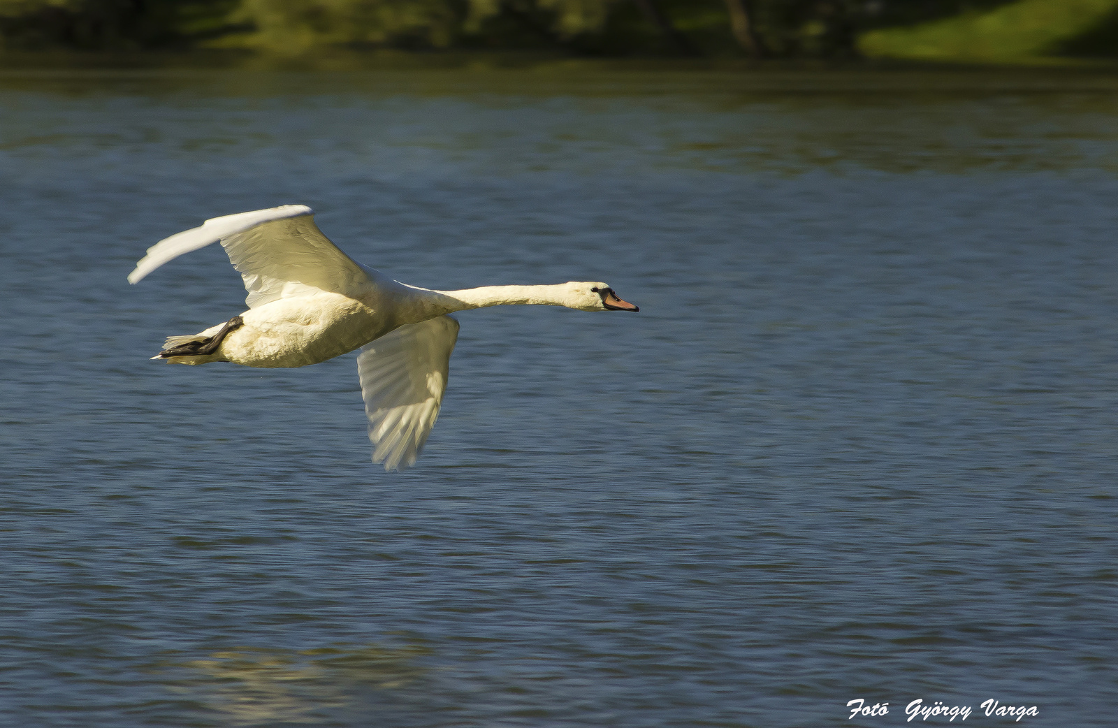
[[361, 348], [357, 358], [372, 461], [415, 464], [438, 417], [454, 311], [537, 303], [579, 311], [638, 311], [605, 283], [501, 285], [432, 291], [356, 263], [319, 231], [305, 205], [226, 215], [148, 248], [130, 283], [210, 243], [221, 242], [245, 280], [248, 311], [189, 337], [168, 337], [152, 357], [184, 365], [305, 367]]

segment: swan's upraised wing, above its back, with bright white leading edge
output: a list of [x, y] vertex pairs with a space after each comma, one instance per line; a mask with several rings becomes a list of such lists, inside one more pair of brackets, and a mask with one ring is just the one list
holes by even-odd
[[139, 282], [183, 253], [221, 240], [229, 262], [245, 281], [249, 308], [275, 301], [288, 283], [334, 293], [350, 293], [368, 283], [361, 266], [319, 230], [313, 215], [305, 205], [283, 205], [215, 217], [148, 248], [148, 255], [129, 274], [129, 282]]

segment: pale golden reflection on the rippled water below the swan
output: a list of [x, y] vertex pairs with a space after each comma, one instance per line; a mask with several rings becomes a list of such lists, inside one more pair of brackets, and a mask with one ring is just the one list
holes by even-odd
[[424, 654], [373, 645], [236, 647], [162, 672], [177, 669], [169, 690], [217, 711], [224, 725], [319, 724], [323, 715], [368, 702], [370, 693], [420, 679], [425, 671], [414, 660]]

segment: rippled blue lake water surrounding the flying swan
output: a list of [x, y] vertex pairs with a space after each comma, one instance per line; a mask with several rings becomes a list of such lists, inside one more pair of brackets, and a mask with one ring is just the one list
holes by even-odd
[[[0, 720], [1114, 725], [1116, 91], [0, 76]], [[143, 249], [286, 202], [401, 281], [642, 312], [462, 314], [387, 474], [352, 354], [148, 360], [244, 291]]]

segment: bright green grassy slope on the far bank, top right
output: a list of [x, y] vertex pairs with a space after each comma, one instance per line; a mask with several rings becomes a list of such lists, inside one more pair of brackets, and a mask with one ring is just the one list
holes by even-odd
[[859, 38], [859, 48], [871, 58], [1040, 60], [1054, 58], [1077, 38], [1112, 25], [1116, 13], [1118, 0], [1020, 0], [986, 12], [872, 30]]

